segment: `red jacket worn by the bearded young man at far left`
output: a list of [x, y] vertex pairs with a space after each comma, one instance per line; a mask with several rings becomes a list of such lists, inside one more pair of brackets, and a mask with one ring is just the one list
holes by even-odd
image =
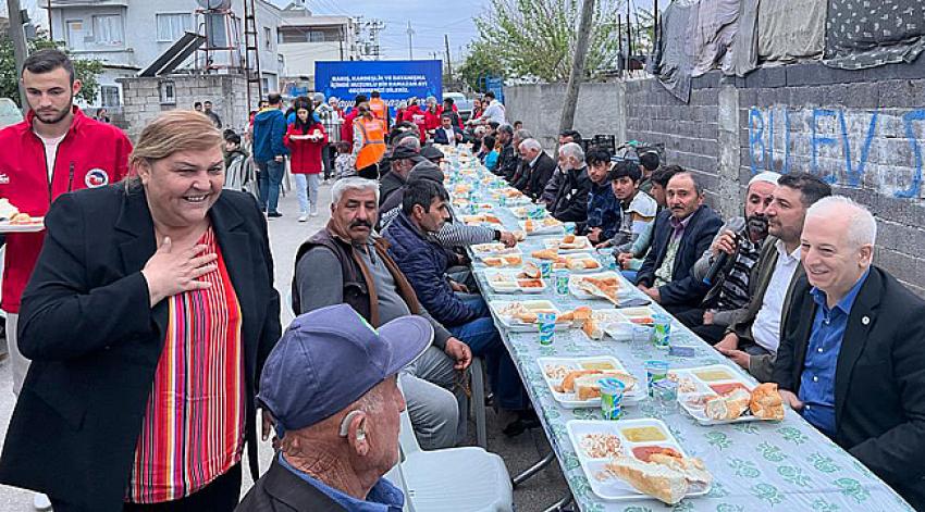
[[[58, 146], [49, 183], [45, 145], [33, 132], [32, 111], [22, 123], [0, 129], [0, 198], [32, 216], [44, 216], [51, 201], [71, 190], [102, 187], [128, 174], [132, 142], [113, 125], [94, 121], [74, 107], [71, 129]], [[20, 312], [45, 233], [10, 233], [0, 309]]]

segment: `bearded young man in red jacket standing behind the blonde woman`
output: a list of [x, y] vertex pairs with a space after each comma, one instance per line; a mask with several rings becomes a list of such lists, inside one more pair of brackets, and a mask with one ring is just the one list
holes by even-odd
[[[22, 71], [29, 112], [22, 123], [0, 130], [0, 198], [40, 217], [60, 195], [102, 187], [127, 174], [132, 143], [119, 128], [94, 121], [74, 105], [81, 80], [59, 50], [40, 50]], [[41, 250], [44, 233], [7, 235], [0, 309], [7, 312], [7, 340], [18, 395], [28, 360], [16, 347], [20, 296]]]

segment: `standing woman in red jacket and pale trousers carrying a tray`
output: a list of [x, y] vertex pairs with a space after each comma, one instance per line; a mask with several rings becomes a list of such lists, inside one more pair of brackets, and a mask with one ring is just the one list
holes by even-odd
[[321, 123], [314, 121], [308, 105], [299, 105], [296, 118], [289, 125], [283, 139], [289, 149], [292, 173], [296, 179], [296, 197], [298, 198], [298, 222], [308, 221], [309, 202], [311, 216], [318, 216], [318, 180], [322, 171], [321, 155], [328, 135]]

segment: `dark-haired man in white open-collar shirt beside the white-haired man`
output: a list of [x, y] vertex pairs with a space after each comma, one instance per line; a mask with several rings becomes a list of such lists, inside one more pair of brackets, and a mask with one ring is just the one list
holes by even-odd
[[765, 210], [770, 236], [752, 267], [751, 299], [716, 344], [717, 350], [761, 382], [770, 380], [791, 288], [803, 275], [800, 235], [806, 210], [830, 195], [831, 187], [812, 174], [786, 174]]

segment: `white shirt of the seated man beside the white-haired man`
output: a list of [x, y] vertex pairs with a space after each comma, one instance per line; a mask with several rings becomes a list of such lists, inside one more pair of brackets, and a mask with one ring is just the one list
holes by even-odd
[[782, 241], [777, 240], [776, 247], [777, 263], [774, 265], [774, 273], [764, 292], [761, 309], [752, 324], [752, 337], [755, 338], [755, 344], [770, 353], [777, 353], [777, 347], [780, 345], [780, 314], [784, 309], [784, 299], [787, 297], [790, 279], [793, 278], [793, 273], [800, 265], [799, 247], [790, 254], [784, 248]]

